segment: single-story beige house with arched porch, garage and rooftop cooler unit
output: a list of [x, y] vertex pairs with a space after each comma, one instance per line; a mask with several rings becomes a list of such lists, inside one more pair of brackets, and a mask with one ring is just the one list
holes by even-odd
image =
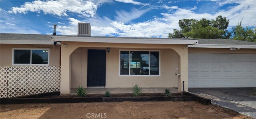
[[55, 34], [1, 33], [0, 67], [59, 66], [61, 94], [77, 86], [256, 87], [253, 42], [97, 37], [90, 23], [78, 23], [76, 36]]

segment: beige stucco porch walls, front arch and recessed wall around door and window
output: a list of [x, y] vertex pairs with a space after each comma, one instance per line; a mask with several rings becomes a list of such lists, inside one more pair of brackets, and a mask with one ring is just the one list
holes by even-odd
[[[142, 87], [177, 87], [177, 77], [174, 76], [175, 68], [178, 66], [178, 56], [180, 56], [180, 66], [178, 66], [180, 70], [180, 78], [178, 82], [185, 81], [185, 91], [188, 90], [188, 50], [184, 50], [183, 47], [187, 45], [163, 45], [163, 44], [129, 44], [129, 43], [92, 43], [92, 42], [65, 42], [67, 47], [62, 48], [61, 52], [61, 81], [60, 81], [60, 93], [62, 95], [70, 94], [70, 89], [76, 88], [75, 86], [79, 84], [83, 84], [86, 86], [86, 62], [74, 64], [72, 60], [76, 58], [72, 58], [72, 53], [79, 55], [82, 54], [81, 58], [86, 60], [86, 48], [95, 48], [95, 49], [106, 49], [110, 47], [110, 53], [106, 55], [106, 87], [131, 87], [132, 84], [139, 83]], [[64, 44], [64, 42], [63, 42]], [[78, 49], [79, 47], [84, 47], [82, 49]], [[76, 51], [78, 49], [78, 51]], [[161, 57], [161, 76], [160, 77], [119, 77], [118, 76], [118, 49], [150, 49], [156, 50], [160, 49], [160, 57]], [[79, 51], [80, 50], [80, 51]], [[71, 55], [72, 54], [72, 55]], [[175, 59], [172, 59], [175, 57]], [[78, 57], [79, 58], [79, 57]], [[77, 58], [77, 59], [78, 59]], [[81, 59], [81, 61], [82, 61]], [[109, 60], [111, 59], [111, 60]], [[83, 60], [83, 61], [85, 61]], [[169, 61], [170, 60], [170, 61]], [[172, 62], [173, 61], [173, 62]], [[79, 60], [77, 61], [79, 62]], [[76, 63], [77, 63], [76, 62]], [[165, 64], [165, 63], [167, 64]], [[168, 64], [169, 63], [169, 64]], [[72, 66], [73, 65], [73, 66]], [[168, 67], [168, 65], [173, 65]], [[76, 67], [78, 66], [78, 67]], [[74, 72], [74, 68], [80, 68], [84, 70], [84, 72]], [[170, 69], [168, 69], [170, 68]], [[164, 70], [165, 69], [165, 70]], [[76, 69], [78, 70], [78, 69]], [[80, 74], [81, 73], [81, 74]], [[72, 76], [71, 76], [72, 74]], [[77, 74], [77, 76], [73, 76]], [[73, 80], [72, 78], [76, 78]], [[84, 79], [85, 78], [85, 79]], [[169, 80], [169, 79], [174, 80]], [[81, 80], [82, 79], [82, 80]], [[139, 80], [138, 80], [139, 79]], [[176, 81], [175, 81], [176, 80]], [[72, 81], [72, 83], [71, 83]], [[73, 82], [74, 81], [74, 82]], [[80, 83], [79, 83], [80, 81]], [[181, 84], [181, 83], [179, 83]], [[181, 91], [181, 85], [178, 85], [178, 90]]]

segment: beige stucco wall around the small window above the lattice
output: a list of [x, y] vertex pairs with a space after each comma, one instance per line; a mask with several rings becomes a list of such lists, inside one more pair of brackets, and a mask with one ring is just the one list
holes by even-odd
[[60, 66], [60, 45], [21, 45], [21, 44], [1, 44], [0, 45], [0, 66], [12, 66], [12, 48], [49, 48], [50, 66]]

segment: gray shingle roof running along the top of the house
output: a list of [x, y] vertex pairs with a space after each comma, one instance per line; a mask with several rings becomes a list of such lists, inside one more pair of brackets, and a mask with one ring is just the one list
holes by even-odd
[[[51, 35], [0, 33], [1, 40], [50, 41], [51, 40], [50, 36]], [[57, 36], [78, 37], [76, 35], [57, 35]], [[123, 38], [123, 39], [169, 39], [169, 38], [147, 38], [147, 37], [102, 37], [102, 36], [91, 36], [91, 37]], [[178, 38], [174, 38], [174, 39], [178, 39]], [[254, 43], [254, 42], [239, 41], [239, 40], [233, 40], [233, 39], [186, 39], [186, 40], [198, 40], [198, 44], [256, 45], [256, 43]]]

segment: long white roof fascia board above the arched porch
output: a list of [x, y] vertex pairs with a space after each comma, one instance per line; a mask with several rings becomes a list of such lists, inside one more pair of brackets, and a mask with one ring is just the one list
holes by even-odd
[[126, 38], [100, 38], [100, 37], [65, 37], [51, 36], [52, 41], [75, 41], [96, 43], [136, 43], [136, 44], [197, 44], [198, 40], [178, 39], [126, 39]]

